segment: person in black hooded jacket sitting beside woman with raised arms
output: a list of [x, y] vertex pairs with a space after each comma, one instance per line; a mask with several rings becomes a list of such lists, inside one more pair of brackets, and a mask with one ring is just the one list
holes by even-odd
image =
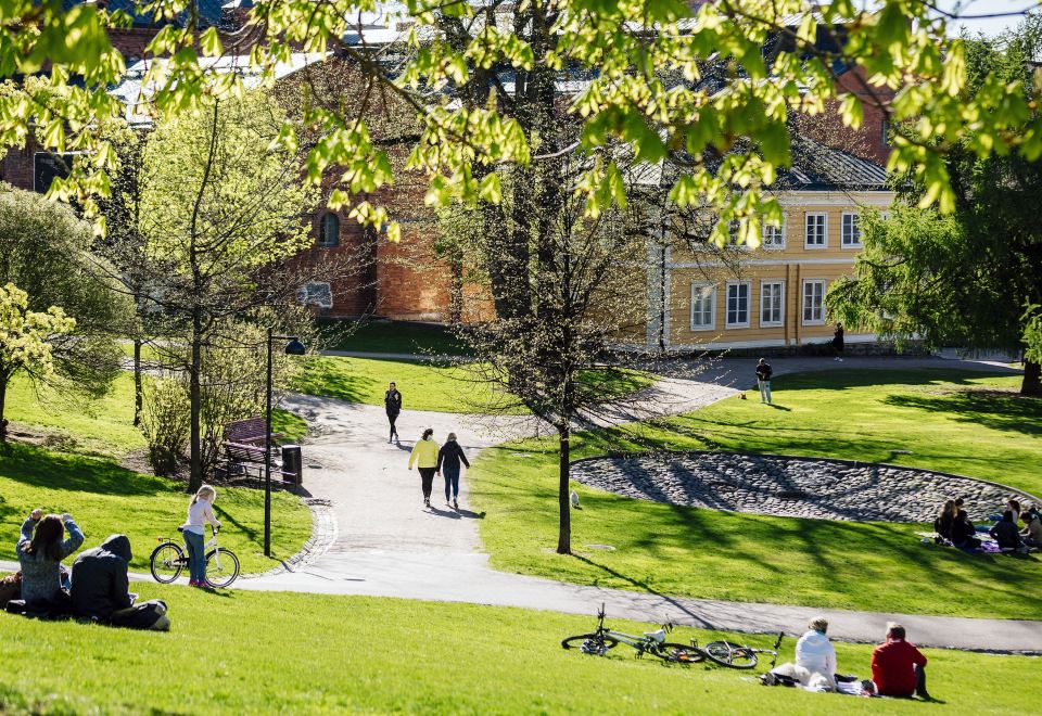
[[131, 559], [126, 535], [111, 535], [101, 547], [81, 552], [73, 562], [73, 614], [131, 629], [168, 629], [165, 602], [135, 604], [127, 572]]

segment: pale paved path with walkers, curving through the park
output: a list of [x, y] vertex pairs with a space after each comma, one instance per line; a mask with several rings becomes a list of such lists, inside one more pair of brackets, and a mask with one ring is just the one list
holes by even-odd
[[[818, 369], [956, 367], [955, 361], [940, 359], [851, 358], [837, 363], [797, 358], [772, 362], [776, 375]], [[995, 365], [958, 362], [960, 368], [996, 369]], [[644, 417], [688, 412], [747, 388], [753, 365], [751, 359], [720, 361], [698, 381], [671, 378], [660, 382], [638, 401], [645, 406]], [[927, 647], [1042, 653], [1042, 622], [679, 599], [497, 572], [490, 566], [478, 536], [478, 520], [484, 515], [467, 509], [466, 473], [459, 512], [439, 498], [437, 478], [433, 507], [423, 509], [418, 476], [406, 470], [408, 450], [424, 427], [433, 426], [440, 440], [449, 431], [456, 432], [473, 458], [482, 448], [531, 434], [537, 427], [534, 423], [406, 410], [398, 418], [398, 429], [408, 442], [398, 446], [386, 442], [386, 418], [380, 407], [314, 396], [294, 396], [287, 407], [315, 429], [305, 447], [305, 485], [316, 497], [332, 501], [338, 538], [304, 568], [243, 579], [243, 589], [429, 599], [587, 616], [605, 602], [617, 618], [647, 622], [668, 617], [683, 625], [750, 632], [798, 634], [811, 616], [825, 614], [831, 636], [863, 642], [877, 641], [886, 623], [898, 619], [915, 635], [917, 643]], [[619, 421], [630, 419], [632, 412], [628, 408]], [[577, 628], [582, 624], [585, 622], [576, 621]]]

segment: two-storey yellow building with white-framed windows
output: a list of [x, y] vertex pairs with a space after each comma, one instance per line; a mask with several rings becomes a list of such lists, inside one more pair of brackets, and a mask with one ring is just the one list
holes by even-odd
[[[649, 246], [649, 349], [785, 348], [833, 337], [825, 295], [853, 271], [861, 214], [885, 212], [893, 192], [867, 159], [821, 148], [809, 163], [814, 170], [782, 179], [785, 223], [764, 227], [761, 247]], [[877, 336], [848, 328], [846, 341]]]

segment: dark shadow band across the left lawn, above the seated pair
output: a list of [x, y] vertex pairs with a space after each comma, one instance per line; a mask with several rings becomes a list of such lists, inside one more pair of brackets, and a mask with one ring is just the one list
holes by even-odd
[[34, 487], [134, 497], [169, 493], [171, 483], [101, 458], [51, 452], [31, 445], [0, 447], [0, 475]]

